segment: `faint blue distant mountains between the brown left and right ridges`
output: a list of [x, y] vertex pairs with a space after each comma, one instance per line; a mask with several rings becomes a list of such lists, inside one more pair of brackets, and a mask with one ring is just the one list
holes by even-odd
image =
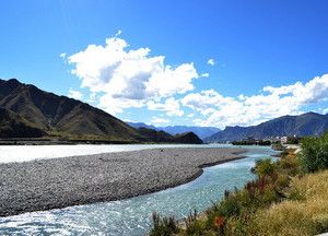
[[167, 126], [167, 127], [154, 127], [143, 122], [128, 122], [131, 127], [134, 128], [148, 128], [154, 130], [163, 130], [172, 135], [176, 135], [178, 133], [194, 132], [200, 139], [208, 138], [219, 131], [219, 128], [215, 127], [191, 127], [191, 126]]

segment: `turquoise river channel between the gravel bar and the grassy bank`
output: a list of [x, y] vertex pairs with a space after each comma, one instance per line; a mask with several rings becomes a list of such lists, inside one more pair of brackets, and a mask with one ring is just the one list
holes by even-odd
[[[214, 148], [214, 146], [208, 146]], [[226, 148], [226, 146], [224, 146]], [[121, 201], [71, 206], [0, 217], [0, 234], [11, 235], [144, 235], [152, 213], [184, 217], [203, 211], [224, 190], [242, 187], [255, 176], [255, 161], [276, 154], [269, 148], [248, 146], [247, 157], [204, 168], [196, 180], [164, 191]]]

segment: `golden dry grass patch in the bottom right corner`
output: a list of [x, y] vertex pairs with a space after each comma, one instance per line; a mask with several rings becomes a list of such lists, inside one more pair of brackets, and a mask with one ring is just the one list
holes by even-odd
[[328, 170], [294, 178], [291, 199], [261, 210], [254, 220], [258, 235], [316, 235], [328, 231]]

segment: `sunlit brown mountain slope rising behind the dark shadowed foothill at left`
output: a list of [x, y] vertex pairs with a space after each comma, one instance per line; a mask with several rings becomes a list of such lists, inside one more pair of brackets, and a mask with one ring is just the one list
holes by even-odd
[[58, 96], [12, 79], [0, 80], [0, 107], [48, 133], [137, 141], [136, 129], [80, 101]]

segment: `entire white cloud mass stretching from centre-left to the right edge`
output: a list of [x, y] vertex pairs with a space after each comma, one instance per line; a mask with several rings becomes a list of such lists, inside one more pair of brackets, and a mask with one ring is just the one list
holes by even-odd
[[[328, 74], [307, 83], [266, 86], [254, 95], [225, 96], [214, 90], [192, 93], [194, 81], [208, 78], [209, 73], [199, 75], [192, 62], [167, 64], [164, 56], [153, 56], [147, 47], [130, 48], [119, 35], [121, 31], [107, 38], [105, 45], [89, 45], [74, 55], [60, 55], [72, 66], [81, 87], [90, 90], [87, 99], [114, 115], [128, 108], [148, 108], [169, 117], [187, 113], [186, 118], [194, 119], [196, 125], [224, 128], [296, 115], [305, 106], [328, 98]], [[208, 64], [214, 66], [214, 59], [209, 59]], [[70, 90], [69, 96], [83, 97], [74, 90]], [[152, 117], [151, 122], [168, 120]]]

